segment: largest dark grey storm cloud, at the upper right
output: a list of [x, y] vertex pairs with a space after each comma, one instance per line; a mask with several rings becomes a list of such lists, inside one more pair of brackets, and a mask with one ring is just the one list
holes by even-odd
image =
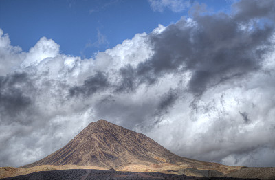
[[194, 25], [181, 19], [161, 34], [151, 34], [154, 54], [137, 66], [137, 76], [153, 83], [162, 74], [190, 70], [189, 89], [199, 95], [223, 80], [259, 69], [260, 59], [272, 45], [274, 24], [260, 22], [243, 30], [239, 16], [245, 21], [275, 16], [274, 1], [241, 1], [235, 7], [235, 16], [193, 13]]

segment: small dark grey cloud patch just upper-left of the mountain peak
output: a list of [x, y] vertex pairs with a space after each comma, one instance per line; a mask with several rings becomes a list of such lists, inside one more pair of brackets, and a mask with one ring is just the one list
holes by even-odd
[[85, 95], [90, 96], [94, 93], [106, 89], [109, 86], [107, 80], [107, 75], [98, 71], [94, 76], [90, 76], [87, 80], [84, 81], [81, 86], [74, 86], [69, 89], [69, 94], [71, 96], [75, 95]]

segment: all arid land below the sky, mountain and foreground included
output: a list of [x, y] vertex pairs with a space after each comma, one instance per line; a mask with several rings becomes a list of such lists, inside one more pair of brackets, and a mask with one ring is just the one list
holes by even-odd
[[[91, 171], [91, 169], [94, 170]], [[109, 169], [113, 169], [113, 171]], [[196, 179], [202, 177], [275, 179], [275, 168], [225, 166], [179, 157], [146, 135], [105, 120], [91, 122], [66, 146], [39, 161], [20, 168], [0, 168], [0, 178], [25, 175], [18, 178], [30, 179], [30, 176], [37, 175], [42, 176], [39, 179], [45, 179], [48, 176], [56, 175], [55, 178], [59, 179], [62, 177], [59, 175], [60, 173], [64, 175], [66, 172], [77, 172], [76, 174], [79, 175], [76, 179], [79, 179], [86, 175], [87, 170], [101, 173], [102, 177], [108, 175], [108, 178], [112, 177], [111, 179], [119, 179], [119, 177], [126, 179], [133, 179], [133, 177], [137, 179], [142, 177], [147, 179]], [[34, 174], [28, 175], [30, 173]], [[93, 177], [92, 174], [89, 173], [89, 176]], [[93, 178], [98, 179], [98, 177]]]

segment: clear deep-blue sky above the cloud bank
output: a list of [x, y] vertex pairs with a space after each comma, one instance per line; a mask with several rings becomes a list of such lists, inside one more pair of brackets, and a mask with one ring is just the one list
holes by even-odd
[[[187, 2], [205, 3], [213, 11], [228, 10], [231, 4], [227, 0]], [[175, 23], [188, 16], [188, 10], [155, 10], [146, 0], [1, 0], [0, 28], [10, 35], [12, 45], [25, 52], [45, 36], [61, 45], [64, 54], [89, 58], [137, 33], [150, 33], [158, 24]]]

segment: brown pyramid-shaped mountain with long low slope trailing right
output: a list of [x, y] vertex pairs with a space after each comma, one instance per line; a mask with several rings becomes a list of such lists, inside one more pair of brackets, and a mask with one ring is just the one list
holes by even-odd
[[[140, 167], [160, 169], [166, 166], [166, 169], [169, 167], [170, 171], [174, 170], [175, 172], [195, 168], [195, 170], [215, 170], [228, 173], [240, 168], [180, 157], [146, 135], [106, 120], [91, 122], [63, 148], [32, 164], [21, 166], [21, 168], [68, 164], [131, 171]], [[133, 165], [139, 168], [135, 169]]]

